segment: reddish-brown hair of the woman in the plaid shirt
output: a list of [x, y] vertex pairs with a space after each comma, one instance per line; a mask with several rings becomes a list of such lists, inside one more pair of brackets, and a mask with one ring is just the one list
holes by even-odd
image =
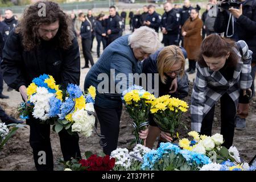
[[202, 44], [200, 53], [198, 56], [198, 63], [207, 67], [204, 56], [207, 57], [222, 57], [226, 56], [230, 52], [229, 58], [226, 60], [227, 67], [236, 67], [239, 57], [233, 48], [237, 48], [236, 42], [231, 39], [222, 38], [220, 35], [212, 34], [207, 36]]

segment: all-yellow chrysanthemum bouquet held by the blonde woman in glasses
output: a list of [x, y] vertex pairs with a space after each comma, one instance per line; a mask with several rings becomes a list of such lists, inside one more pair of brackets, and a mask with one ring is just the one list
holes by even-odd
[[150, 112], [159, 129], [170, 133], [171, 137], [174, 138], [177, 127], [183, 125], [180, 122], [181, 114], [187, 110], [187, 102], [165, 95], [152, 101]]

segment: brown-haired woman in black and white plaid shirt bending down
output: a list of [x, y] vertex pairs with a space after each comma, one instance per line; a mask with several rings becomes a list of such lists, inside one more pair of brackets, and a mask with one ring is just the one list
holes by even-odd
[[[191, 96], [191, 127], [200, 134], [211, 135], [214, 106], [221, 104], [221, 134], [224, 146], [232, 146], [235, 116], [247, 115], [245, 91], [252, 78], [251, 54], [247, 44], [234, 42], [217, 34], [204, 39], [196, 63], [196, 78]], [[239, 103], [239, 104], [238, 104]]]

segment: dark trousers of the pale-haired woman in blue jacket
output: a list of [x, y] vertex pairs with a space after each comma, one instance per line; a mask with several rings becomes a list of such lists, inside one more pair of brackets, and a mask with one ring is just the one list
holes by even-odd
[[101, 125], [101, 135], [105, 136], [105, 139], [102, 139], [102, 143], [106, 143], [103, 152], [110, 155], [113, 150], [117, 149], [122, 103], [115, 109], [104, 109], [98, 106], [94, 106], [94, 109]]

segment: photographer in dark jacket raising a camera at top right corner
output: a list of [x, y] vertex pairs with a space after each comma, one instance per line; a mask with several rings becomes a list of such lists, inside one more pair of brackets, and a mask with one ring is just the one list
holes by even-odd
[[[224, 36], [234, 40], [244, 40], [253, 51], [251, 60], [251, 90], [254, 96], [254, 78], [256, 72], [256, 0], [221, 1], [220, 11], [214, 23], [214, 30], [224, 32]], [[237, 115], [236, 129], [245, 129], [245, 117]]]

